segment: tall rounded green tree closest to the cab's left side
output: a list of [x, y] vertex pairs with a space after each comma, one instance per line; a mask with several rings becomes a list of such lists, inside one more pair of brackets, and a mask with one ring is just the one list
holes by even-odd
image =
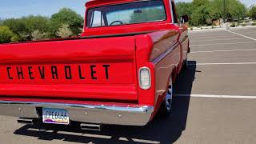
[[70, 26], [72, 33], [78, 35], [82, 33], [83, 18], [74, 10], [63, 8], [50, 17], [50, 32], [52, 36], [56, 36], [58, 29], [63, 25]]

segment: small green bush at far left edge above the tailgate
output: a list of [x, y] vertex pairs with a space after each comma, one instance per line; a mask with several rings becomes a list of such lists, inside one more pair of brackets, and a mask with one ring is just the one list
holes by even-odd
[[11, 42], [10, 39], [14, 36], [14, 33], [8, 26], [0, 26], [0, 43]]

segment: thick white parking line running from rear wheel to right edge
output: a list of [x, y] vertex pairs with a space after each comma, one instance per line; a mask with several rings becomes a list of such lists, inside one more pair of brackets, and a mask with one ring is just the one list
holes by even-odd
[[241, 98], [241, 99], [256, 99], [256, 96], [245, 95], [213, 95], [213, 94], [174, 94], [174, 97], [194, 97], [194, 98]]

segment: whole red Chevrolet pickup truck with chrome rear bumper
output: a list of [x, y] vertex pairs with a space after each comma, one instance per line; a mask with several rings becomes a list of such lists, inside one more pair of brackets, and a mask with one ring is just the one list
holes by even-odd
[[86, 130], [169, 114], [190, 51], [181, 21], [172, 0], [91, 0], [79, 38], [1, 44], [0, 114]]

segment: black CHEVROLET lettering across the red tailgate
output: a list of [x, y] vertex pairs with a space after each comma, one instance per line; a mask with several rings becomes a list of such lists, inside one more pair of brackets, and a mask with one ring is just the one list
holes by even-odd
[[[74, 70], [75, 69], [75, 70]], [[86, 78], [97, 80], [97, 70], [102, 70], [105, 73], [105, 79], [110, 78], [110, 65], [63, 65], [63, 66], [6, 66], [6, 74], [8, 79], [66, 79], [72, 80], [78, 78], [86, 80]], [[50, 72], [46, 72], [46, 70]], [[74, 74], [77, 72], [77, 74]], [[62, 73], [62, 74], [59, 74]], [[2, 71], [1, 74], [4, 74]], [[49, 74], [49, 75], [46, 75]]]

